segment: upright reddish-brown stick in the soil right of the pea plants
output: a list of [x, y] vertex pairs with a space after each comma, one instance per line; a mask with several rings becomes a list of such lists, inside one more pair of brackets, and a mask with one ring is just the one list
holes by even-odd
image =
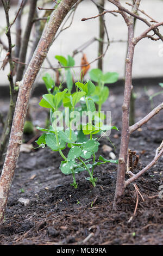
[[[137, 11], [141, 0], [136, 0], [133, 11]], [[118, 2], [119, 1], [115, 1]], [[125, 76], [125, 85], [124, 85], [124, 97], [122, 105], [122, 133], [121, 133], [121, 146], [120, 146], [120, 156], [117, 170], [117, 182], [116, 182], [116, 191], [115, 199], [124, 193], [125, 188], [125, 173], [127, 166], [127, 156], [128, 156], [128, 144], [129, 144], [129, 108], [130, 108], [130, 97], [132, 90], [132, 71], [133, 71], [133, 58], [134, 58], [134, 49], [135, 44], [133, 42], [134, 38], [134, 18], [133, 16], [127, 17], [125, 13], [122, 12], [124, 21], [126, 21], [128, 27], [128, 52], [126, 59], [126, 76]]]

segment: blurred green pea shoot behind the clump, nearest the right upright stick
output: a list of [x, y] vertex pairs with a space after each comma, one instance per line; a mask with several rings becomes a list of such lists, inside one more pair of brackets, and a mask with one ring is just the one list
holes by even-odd
[[101, 69], [92, 69], [89, 72], [89, 75], [91, 80], [97, 83], [96, 90], [92, 95], [92, 99], [98, 105], [98, 111], [101, 111], [102, 104], [108, 99], [109, 96], [109, 88], [104, 85], [117, 82], [118, 73], [106, 72], [104, 74]]

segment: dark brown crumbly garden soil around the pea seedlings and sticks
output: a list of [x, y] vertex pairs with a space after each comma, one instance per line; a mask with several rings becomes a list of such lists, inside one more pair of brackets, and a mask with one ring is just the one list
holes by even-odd
[[[160, 87], [147, 89], [153, 94]], [[151, 102], [143, 87], [136, 87], [135, 92], [137, 121], [151, 111]], [[122, 87], [111, 86], [109, 99], [103, 106], [103, 110], [111, 111], [112, 124], [119, 128], [122, 93]], [[156, 96], [154, 106], [161, 101], [162, 96]], [[32, 98], [30, 110], [34, 124], [44, 126], [46, 112], [38, 106], [38, 102], [39, 99]], [[5, 114], [7, 101], [1, 100], [0, 107]], [[131, 135], [130, 149], [140, 156], [135, 173], [155, 156], [163, 137], [162, 126], [163, 114], [160, 112]], [[110, 135], [116, 151], [108, 139], [103, 138], [99, 154], [109, 159], [109, 153], [104, 153], [102, 149], [107, 144], [118, 158], [120, 136], [121, 129], [112, 131]], [[24, 142], [32, 137], [24, 136]], [[135, 216], [137, 197], [133, 184], [119, 199], [116, 211], [112, 211], [116, 164], [108, 163], [95, 169], [95, 176], [98, 177], [95, 188], [85, 180], [87, 173], [80, 173], [77, 175], [78, 188], [74, 189], [70, 186], [72, 177], [61, 173], [60, 161], [57, 152], [43, 148], [20, 154], [5, 223], [0, 232], [0, 245], [163, 245], [163, 199], [158, 197], [159, 186], [163, 185], [162, 158], [135, 182], [144, 199], [143, 202], [139, 195]], [[24, 206], [18, 202], [19, 198], [29, 199], [29, 204]], [[90, 239], [84, 241], [88, 236]]]

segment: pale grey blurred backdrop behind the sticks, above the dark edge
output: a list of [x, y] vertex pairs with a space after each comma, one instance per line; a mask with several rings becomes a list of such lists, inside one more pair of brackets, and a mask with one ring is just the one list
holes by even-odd
[[[29, 1], [28, 1], [29, 2]], [[37, 6], [42, 6], [42, 2], [46, 1], [38, 1]], [[95, 1], [97, 2], [97, 1]], [[128, 1], [131, 3], [132, 1]], [[10, 21], [14, 20], [18, 1], [13, 0], [13, 3], [10, 9]], [[122, 0], [121, 3], [124, 7], [130, 9], [131, 7], [126, 4], [126, 0]], [[52, 8], [52, 3], [47, 3], [44, 7]], [[105, 9], [116, 9], [114, 5], [105, 1]], [[153, 17], [156, 21], [162, 21], [162, 10], [163, 10], [163, 1], [162, 0], [146, 0], [141, 1], [141, 10], [146, 11], [146, 13]], [[27, 4], [23, 10], [22, 16], [22, 24], [26, 24], [28, 17], [29, 5]], [[37, 10], [38, 15], [41, 17], [43, 15], [43, 10]], [[73, 22], [70, 28], [63, 31], [58, 38], [54, 41], [48, 53], [48, 60], [53, 67], [58, 66], [57, 59], [54, 58], [55, 55], [62, 55], [67, 57], [68, 54], [72, 55], [73, 51], [76, 50], [81, 45], [85, 44], [92, 40], [93, 38], [99, 38], [99, 17], [96, 19], [91, 19], [87, 21], [81, 21], [82, 18], [87, 18], [91, 16], [95, 16], [98, 14], [97, 6], [91, 0], [84, 0], [79, 5], [74, 14]], [[1, 40], [8, 45], [7, 37], [5, 35], [5, 14], [4, 9], [0, 8], [0, 16], [1, 16], [1, 25], [0, 25], [0, 38]], [[141, 14], [145, 19], [147, 18], [145, 15]], [[126, 50], [127, 50], [127, 26], [124, 23], [121, 15], [114, 16], [112, 14], [104, 15], [106, 28], [108, 30], [110, 46], [108, 51], [105, 54], [103, 59], [103, 71], [115, 71], [120, 74], [120, 78], [124, 77], [124, 61], [126, 58]], [[149, 19], [148, 19], [149, 20]], [[71, 19], [67, 21], [66, 26], [68, 26], [71, 22]], [[24, 26], [25, 27], [25, 26]], [[22, 27], [22, 30], [24, 30]], [[135, 34], [139, 35], [143, 31], [147, 29], [145, 23], [141, 21], [136, 21], [135, 26]], [[12, 43], [15, 42], [15, 24], [11, 28], [12, 31]], [[163, 32], [163, 29], [160, 28], [160, 31]], [[23, 33], [23, 31], [22, 31]], [[35, 27], [33, 27], [33, 31], [31, 34], [31, 40], [35, 37]], [[106, 36], [105, 36], [105, 41]], [[29, 45], [32, 46], [32, 41], [29, 42]], [[1, 47], [1, 45], [0, 45]], [[105, 50], [106, 44], [104, 45]], [[27, 60], [29, 58], [30, 47], [28, 49]], [[86, 58], [88, 62], [92, 62], [97, 56], [98, 52], [98, 41], [92, 42], [88, 47], [86, 47], [83, 52], [80, 52], [74, 56], [76, 61], [76, 65], [80, 65], [83, 53], [86, 54]], [[1, 47], [1, 58], [2, 62], [5, 58], [6, 52]], [[133, 77], [134, 78], [156, 78], [162, 77], [162, 66], [163, 66], [163, 43], [159, 41], [152, 41], [150, 39], [143, 39], [139, 44], [137, 44], [135, 48], [135, 56], [134, 56], [134, 66], [133, 66]], [[49, 67], [49, 63], [47, 60], [43, 63], [43, 67]], [[91, 69], [97, 67], [97, 62], [91, 64]], [[80, 76], [80, 68], [74, 68], [74, 77], [78, 79]], [[5, 66], [4, 70], [0, 71], [1, 81], [0, 86], [8, 85], [7, 74], [9, 72], [9, 65]], [[52, 70], [44, 70], [41, 69], [39, 76], [37, 77], [37, 81], [42, 83], [42, 76], [49, 72], [50, 74], [54, 74]], [[85, 78], [89, 77], [87, 74]], [[75, 78], [74, 78], [75, 79]], [[75, 79], [76, 80], [76, 79]], [[161, 81], [160, 81], [161, 82]]]

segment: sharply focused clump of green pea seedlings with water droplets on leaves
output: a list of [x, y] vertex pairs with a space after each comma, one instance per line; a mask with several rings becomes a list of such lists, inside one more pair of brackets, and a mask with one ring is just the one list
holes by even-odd
[[[94, 168], [100, 164], [118, 163], [118, 160], [104, 159], [99, 156], [96, 161], [96, 153], [98, 152], [99, 139], [95, 137], [99, 132], [105, 132], [111, 129], [118, 130], [116, 126], [109, 126], [103, 123], [103, 115], [96, 111], [95, 102], [92, 95], [95, 93], [96, 87], [90, 80], [85, 83], [76, 82], [76, 92], [71, 94], [68, 89], [60, 91], [60, 87], [55, 91], [55, 94], [48, 93], [42, 95], [42, 100], [39, 105], [50, 109], [51, 124], [49, 129], [37, 127], [43, 131], [43, 134], [37, 139], [36, 143], [39, 147], [46, 146], [53, 151], [58, 151], [62, 157], [60, 170], [62, 173], [72, 174], [73, 183], [71, 186], [77, 188], [76, 174], [87, 171], [89, 180], [95, 187], [97, 178], [93, 176]], [[77, 103], [80, 99], [84, 99], [87, 108], [86, 121], [80, 124], [80, 113]], [[59, 108], [64, 107], [63, 111]], [[64, 117], [64, 118], [63, 118]], [[74, 118], [75, 117], [75, 118]], [[59, 125], [58, 125], [59, 124]], [[75, 126], [75, 127], [74, 127]], [[83, 133], [82, 142], [81, 136], [77, 133]], [[63, 150], [67, 148], [68, 154], [65, 155]]]

